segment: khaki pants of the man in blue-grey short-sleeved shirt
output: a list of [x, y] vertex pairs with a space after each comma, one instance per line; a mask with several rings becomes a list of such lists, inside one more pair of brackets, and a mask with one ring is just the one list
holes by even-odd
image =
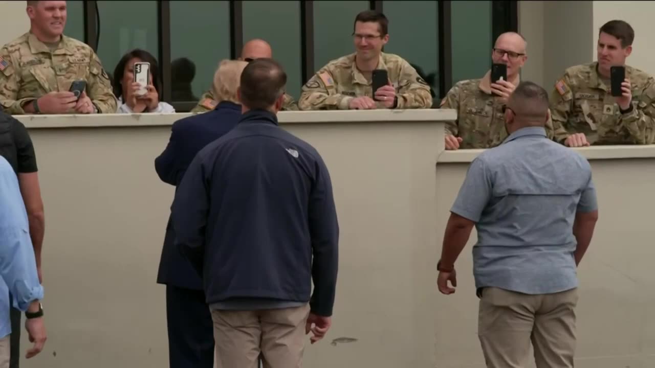
[[487, 368], [572, 368], [578, 290], [527, 295], [496, 287], [482, 292], [478, 336]]

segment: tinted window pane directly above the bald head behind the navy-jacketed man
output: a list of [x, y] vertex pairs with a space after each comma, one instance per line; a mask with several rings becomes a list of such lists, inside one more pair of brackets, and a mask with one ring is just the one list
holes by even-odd
[[287, 93], [297, 100], [304, 83], [301, 78], [300, 2], [249, 0], [242, 4], [244, 43], [259, 38], [271, 44], [273, 58], [287, 73]]

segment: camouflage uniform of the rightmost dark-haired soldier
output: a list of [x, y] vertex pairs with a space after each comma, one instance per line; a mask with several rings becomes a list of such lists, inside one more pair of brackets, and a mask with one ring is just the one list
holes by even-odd
[[655, 143], [655, 79], [626, 65], [632, 91], [632, 111], [621, 113], [609, 80], [598, 74], [597, 63], [577, 65], [564, 72], [550, 96], [557, 141], [584, 133], [592, 145]]

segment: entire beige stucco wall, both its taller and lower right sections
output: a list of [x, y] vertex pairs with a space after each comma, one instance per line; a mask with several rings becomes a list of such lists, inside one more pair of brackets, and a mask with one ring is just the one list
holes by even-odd
[[[436, 121], [453, 114], [280, 114], [324, 156], [341, 224], [333, 327], [308, 344], [308, 367], [483, 368], [475, 233], [457, 263], [457, 293], [440, 295], [435, 284], [449, 208], [480, 152], [443, 151]], [[164, 287], [155, 277], [173, 190], [153, 160], [181, 116], [20, 117], [37, 147], [46, 206], [50, 335], [24, 367], [166, 366]], [[576, 367], [653, 367], [655, 146], [580, 151], [591, 160], [601, 219], [580, 267]], [[329, 344], [337, 337], [358, 341]]]

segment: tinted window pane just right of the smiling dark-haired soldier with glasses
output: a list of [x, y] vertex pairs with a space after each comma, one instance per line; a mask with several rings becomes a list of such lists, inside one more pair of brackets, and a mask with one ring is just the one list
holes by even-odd
[[388, 0], [384, 1], [383, 9], [384, 15], [389, 20], [389, 42], [384, 47], [384, 51], [398, 54], [412, 64], [438, 96], [437, 2]]

